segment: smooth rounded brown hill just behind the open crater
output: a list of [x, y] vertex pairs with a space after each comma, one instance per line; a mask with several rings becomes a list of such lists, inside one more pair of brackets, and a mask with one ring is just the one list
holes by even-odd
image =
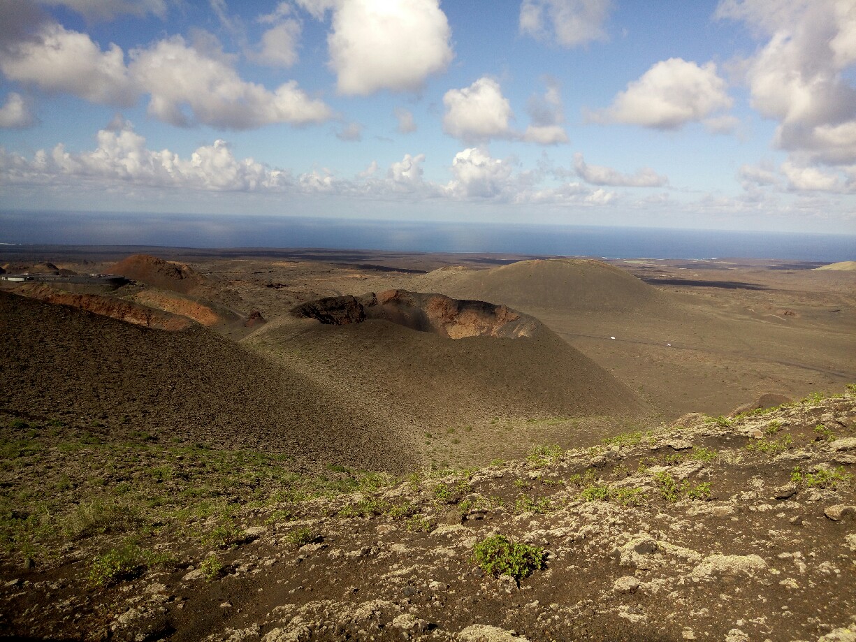
[[663, 294], [656, 288], [591, 259], [519, 261], [489, 270], [441, 268], [414, 277], [413, 283], [451, 296], [502, 301], [526, 312], [626, 312], [663, 302]]

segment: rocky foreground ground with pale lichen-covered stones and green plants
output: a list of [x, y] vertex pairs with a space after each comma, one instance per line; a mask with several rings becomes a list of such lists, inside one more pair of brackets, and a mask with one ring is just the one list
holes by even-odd
[[30, 639], [856, 640], [856, 386], [404, 479], [3, 421]]

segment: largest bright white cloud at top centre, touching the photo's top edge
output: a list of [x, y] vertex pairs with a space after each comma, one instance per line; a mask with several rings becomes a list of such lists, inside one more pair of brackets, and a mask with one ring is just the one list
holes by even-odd
[[[314, 15], [323, 15], [330, 4], [301, 2]], [[332, 28], [330, 68], [343, 94], [417, 90], [454, 57], [449, 21], [438, 0], [341, 0]]]

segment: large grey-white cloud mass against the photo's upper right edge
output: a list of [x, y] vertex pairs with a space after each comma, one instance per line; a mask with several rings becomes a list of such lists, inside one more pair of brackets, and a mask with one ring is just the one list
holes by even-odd
[[716, 17], [743, 21], [762, 39], [744, 61], [746, 84], [752, 107], [779, 123], [776, 146], [794, 154], [791, 187], [832, 185], [803, 169], [856, 163], [856, 4], [723, 0]]

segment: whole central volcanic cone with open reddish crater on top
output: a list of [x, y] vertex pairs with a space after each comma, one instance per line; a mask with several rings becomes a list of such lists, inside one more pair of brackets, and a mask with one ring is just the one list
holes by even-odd
[[630, 389], [538, 319], [482, 301], [403, 290], [332, 297], [249, 341], [431, 427], [640, 411]]

